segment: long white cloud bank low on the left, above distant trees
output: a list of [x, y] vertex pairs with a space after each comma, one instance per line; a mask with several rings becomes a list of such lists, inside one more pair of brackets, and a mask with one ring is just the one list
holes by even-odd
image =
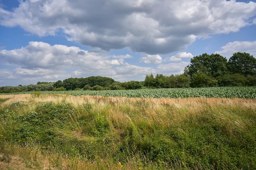
[[13, 85], [26, 85], [38, 81], [55, 82], [71, 76], [108, 76], [116, 81], [142, 81], [146, 74], [157, 73], [156, 68], [125, 62], [131, 57], [130, 54], [111, 56], [74, 46], [30, 41], [20, 49], [0, 50], [0, 60], [4, 61], [1, 67], [7, 67], [0, 69], [0, 83], [4, 85], [4, 81], [8, 80]]

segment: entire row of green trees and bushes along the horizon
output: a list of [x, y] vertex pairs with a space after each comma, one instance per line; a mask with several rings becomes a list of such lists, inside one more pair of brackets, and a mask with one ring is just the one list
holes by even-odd
[[256, 59], [245, 52], [236, 52], [227, 60], [220, 54], [195, 56], [180, 75], [147, 74], [144, 81], [118, 82], [109, 77], [67, 78], [55, 83], [0, 87], [0, 93], [65, 90], [117, 90], [141, 88], [186, 88], [256, 86]]

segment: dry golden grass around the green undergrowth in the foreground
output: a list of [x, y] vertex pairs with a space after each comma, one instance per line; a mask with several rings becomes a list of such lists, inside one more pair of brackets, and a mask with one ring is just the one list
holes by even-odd
[[[71, 103], [75, 108], [79, 108], [84, 103], [92, 104], [92, 112], [99, 113], [106, 117], [110, 124], [110, 130], [117, 135], [121, 135], [121, 129], [128, 124], [147, 124], [147, 130], [154, 129], [154, 126], [168, 127], [170, 124], [181, 124], [184, 120], [191, 122], [197, 121], [196, 118], [205, 116], [211, 112], [219, 124], [226, 126], [229, 134], [235, 134], [236, 131], [243, 131], [252, 124], [253, 121], [241, 120], [240, 113], [234, 115], [236, 110], [246, 110], [247, 108], [256, 110], [256, 99], [242, 98], [126, 98], [126, 97], [103, 97], [103, 96], [72, 96], [62, 94], [17, 94], [17, 95], [0, 95], [0, 98], [10, 98], [2, 102], [0, 107], [9, 105], [13, 102], [24, 101], [31, 105], [27, 105], [22, 112], [31, 111], [36, 107], [37, 102], [54, 102]], [[79, 109], [78, 109], [79, 110]], [[232, 113], [231, 113], [232, 111]], [[214, 114], [213, 114], [214, 113]], [[82, 115], [86, 113], [74, 113]], [[249, 113], [248, 113], [249, 114]], [[246, 116], [246, 115], [243, 115]], [[73, 116], [75, 117], [75, 116]], [[114, 127], [115, 126], [115, 127]], [[117, 128], [119, 127], [119, 129]], [[177, 129], [179, 130], [179, 129]], [[180, 129], [182, 130], [182, 129]], [[61, 132], [60, 132], [61, 133]], [[83, 136], [82, 129], [78, 126], [74, 131], [63, 132], [63, 136], [72, 137], [79, 140], [94, 140], [90, 137]], [[7, 147], [7, 146], [6, 146]], [[8, 147], [7, 147], [8, 149]], [[0, 169], [20, 169], [31, 170], [38, 168], [36, 163], [40, 164], [41, 169], [118, 169], [114, 164], [106, 163], [105, 160], [99, 158], [97, 162], [70, 158], [65, 155], [53, 152], [49, 155], [42, 153], [41, 148], [34, 147], [21, 148], [16, 147], [12, 150], [11, 161], [9, 163], [0, 161]], [[30, 160], [30, 162], [26, 162]], [[137, 161], [137, 160], [136, 160]], [[132, 163], [135, 160], [128, 160], [126, 169], [132, 169], [136, 166]], [[102, 163], [102, 166], [100, 164]], [[58, 165], [58, 167], [56, 166]], [[137, 167], [139, 168], [139, 167]]]

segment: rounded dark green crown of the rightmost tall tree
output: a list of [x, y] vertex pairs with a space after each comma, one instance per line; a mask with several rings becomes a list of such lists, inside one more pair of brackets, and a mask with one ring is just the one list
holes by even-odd
[[256, 59], [245, 52], [236, 52], [229, 58], [228, 68], [231, 74], [243, 76], [256, 75]]

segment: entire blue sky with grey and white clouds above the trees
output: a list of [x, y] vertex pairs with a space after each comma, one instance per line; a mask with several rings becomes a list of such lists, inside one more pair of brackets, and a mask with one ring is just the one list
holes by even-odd
[[256, 57], [256, 0], [0, 0], [0, 86], [144, 81], [234, 52]]

